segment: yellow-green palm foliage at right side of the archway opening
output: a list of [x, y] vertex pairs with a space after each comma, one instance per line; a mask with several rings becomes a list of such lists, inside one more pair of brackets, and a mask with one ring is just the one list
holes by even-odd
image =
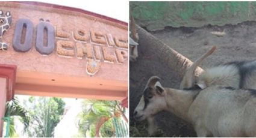
[[113, 118], [120, 119], [123, 115], [123, 109], [117, 101], [84, 100], [82, 108], [83, 111], [78, 115], [78, 127], [83, 137], [87, 134], [90, 137], [116, 136]]

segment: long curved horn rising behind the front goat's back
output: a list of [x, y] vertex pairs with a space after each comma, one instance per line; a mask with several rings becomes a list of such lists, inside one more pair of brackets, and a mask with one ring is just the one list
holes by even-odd
[[211, 49], [208, 50], [207, 53], [204, 53], [204, 55], [202, 55], [200, 58], [198, 58], [189, 67], [189, 69], [186, 71], [186, 73], [183, 77], [183, 80], [181, 81], [180, 89], [191, 88], [193, 86], [193, 83], [194, 83], [194, 80], [195, 80], [194, 72], [196, 70], [196, 67], [198, 67], [198, 65], [201, 64], [203, 59], [205, 59], [205, 58], [207, 58], [207, 56], [211, 55], [211, 53], [213, 53], [215, 49], [216, 49], [216, 46], [211, 47]]

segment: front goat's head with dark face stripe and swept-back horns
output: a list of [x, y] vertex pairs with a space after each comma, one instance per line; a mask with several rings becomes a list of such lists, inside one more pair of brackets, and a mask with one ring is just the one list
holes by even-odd
[[142, 121], [146, 118], [154, 117], [154, 115], [166, 106], [165, 89], [158, 82], [159, 77], [153, 76], [148, 80], [146, 88], [143, 91], [142, 98], [134, 110], [134, 118], [137, 121]]

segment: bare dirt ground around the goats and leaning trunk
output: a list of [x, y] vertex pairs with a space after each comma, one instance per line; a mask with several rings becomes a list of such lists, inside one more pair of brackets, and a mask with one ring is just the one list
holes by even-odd
[[[211, 34], [211, 31], [223, 31], [225, 35], [217, 37]], [[208, 25], [202, 28], [167, 27], [162, 31], [150, 33], [192, 61], [211, 46], [217, 46], [216, 51], [202, 63], [201, 67], [204, 69], [226, 62], [256, 59], [256, 22], [225, 26]], [[132, 113], [149, 77], [160, 76], [163, 78], [163, 86], [173, 88], [178, 88], [181, 81], [180, 76], [161, 64], [157, 55], [151, 56], [154, 52], [145, 50], [145, 47], [140, 45], [138, 61], [130, 62], [130, 137], [148, 137], [146, 121], [135, 122]], [[192, 127], [170, 113], [158, 113], [157, 123], [159, 131], [156, 137], [196, 136]]]

